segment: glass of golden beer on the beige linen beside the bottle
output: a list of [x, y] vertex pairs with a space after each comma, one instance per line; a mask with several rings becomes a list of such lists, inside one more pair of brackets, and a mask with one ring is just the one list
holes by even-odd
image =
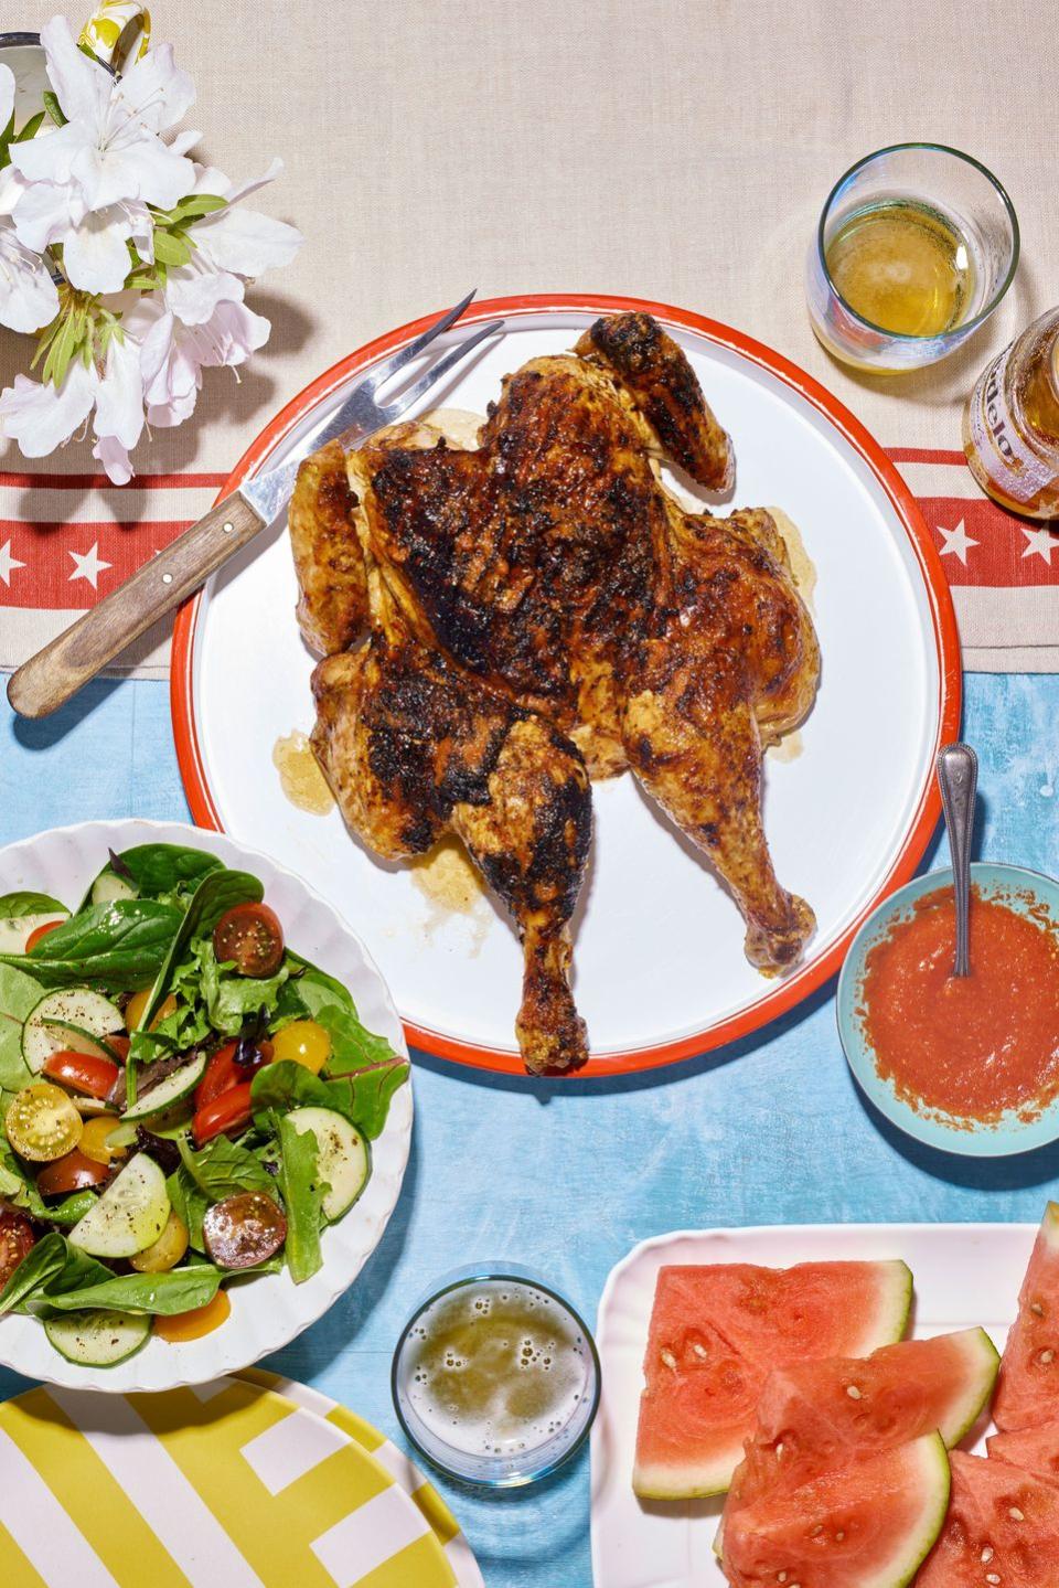
[[997, 178], [940, 143], [897, 143], [832, 187], [807, 264], [813, 330], [843, 364], [935, 364], [992, 314], [1019, 229]]

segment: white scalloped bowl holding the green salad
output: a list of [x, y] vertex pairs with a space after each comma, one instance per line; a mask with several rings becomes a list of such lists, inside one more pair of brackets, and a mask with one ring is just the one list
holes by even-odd
[[[138, 843], [181, 843], [208, 850], [225, 865], [260, 878], [287, 943], [345, 983], [368, 1031], [387, 1037], [395, 1053], [408, 1056], [394, 1000], [356, 932], [294, 872], [224, 834], [181, 823], [137, 819], [57, 827], [0, 850], [0, 894], [32, 889], [75, 907], [106, 864], [106, 851], [121, 853]], [[303, 1285], [295, 1285], [287, 1272], [232, 1285], [232, 1316], [213, 1334], [179, 1345], [151, 1337], [141, 1351], [114, 1367], [78, 1367], [48, 1343], [35, 1318], [8, 1315], [0, 1318], [0, 1363], [30, 1378], [73, 1390], [127, 1394], [205, 1383], [279, 1350], [316, 1323], [352, 1285], [383, 1239], [408, 1162], [411, 1113], [408, 1081], [395, 1093], [386, 1127], [372, 1143], [372, 1178], [364, 1196], [345, 1218], [324, 1231], [324, 1264]]]

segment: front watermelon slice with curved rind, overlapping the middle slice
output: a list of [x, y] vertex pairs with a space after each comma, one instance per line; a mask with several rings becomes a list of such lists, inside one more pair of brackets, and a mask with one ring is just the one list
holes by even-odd
[[726, 1575], [734, 1588], [903, 1588], [948, 1497], [945, 1445], [926, 1434], [737, 1510], [724, 1529]]

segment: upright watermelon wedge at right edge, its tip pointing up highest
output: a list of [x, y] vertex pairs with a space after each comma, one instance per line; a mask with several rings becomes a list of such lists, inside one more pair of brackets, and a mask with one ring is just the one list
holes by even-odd
[[997, 1428], [1059, 1423], [1059, 1204], [1045, 1208], [1000, 1363]]

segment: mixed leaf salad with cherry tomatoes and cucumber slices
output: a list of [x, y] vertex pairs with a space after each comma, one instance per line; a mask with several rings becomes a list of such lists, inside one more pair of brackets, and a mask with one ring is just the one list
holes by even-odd
[[68, 912], [0, 897], [0, 1313], [64, 1356], [194, 1339], [321, 1267], [408, 1066], [202, 850], [111, 853]]

